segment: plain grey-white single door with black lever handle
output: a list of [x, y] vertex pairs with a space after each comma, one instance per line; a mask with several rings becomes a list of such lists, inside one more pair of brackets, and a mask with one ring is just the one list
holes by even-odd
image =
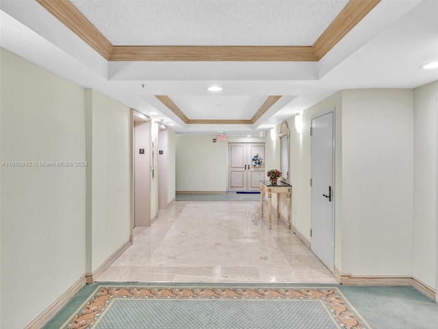
[[333, 271], [333, 112], [311, 119], [311, 250]]

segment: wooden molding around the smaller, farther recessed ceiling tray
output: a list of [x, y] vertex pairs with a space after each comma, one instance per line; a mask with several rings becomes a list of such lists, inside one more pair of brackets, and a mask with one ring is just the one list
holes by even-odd
[[161, 101], [166, 108], [171, 110], [179, 117], [184, 123], [188, 125], [252, 125], [260, 117], [266, 113], [273, 105], [278, 101], [281, 96], [269, 96], [266, 101], [260, 106], [259, 110], [255, 112], [251, 119], [243, 120], [229, 120], [229, 119], [189, 119], [183, 111], [175, 104], [170, 97], [166, 95], [155, 95], [155, 97]]

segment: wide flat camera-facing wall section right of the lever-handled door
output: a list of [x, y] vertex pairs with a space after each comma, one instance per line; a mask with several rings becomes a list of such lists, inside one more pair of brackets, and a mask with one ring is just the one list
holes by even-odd
[[411, 275], [413, 90], [342, 92], [342, 272]]

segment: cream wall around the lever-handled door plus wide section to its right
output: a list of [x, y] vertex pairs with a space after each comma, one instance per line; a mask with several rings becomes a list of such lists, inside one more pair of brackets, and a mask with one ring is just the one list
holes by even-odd
[[302, 134], [288, 121], [292, 223], [310, 240], [310, 120], [330, 108], [335, 110], [335, 267], [354, 275], [410, 275], [412, 90], [344, 90], [303, 112]]

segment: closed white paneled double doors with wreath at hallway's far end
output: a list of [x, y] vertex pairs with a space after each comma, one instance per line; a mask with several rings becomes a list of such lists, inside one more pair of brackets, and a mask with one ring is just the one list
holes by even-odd
[[229, 190], [259, 190], [264, 157], [264, 143], [229, 143]]

